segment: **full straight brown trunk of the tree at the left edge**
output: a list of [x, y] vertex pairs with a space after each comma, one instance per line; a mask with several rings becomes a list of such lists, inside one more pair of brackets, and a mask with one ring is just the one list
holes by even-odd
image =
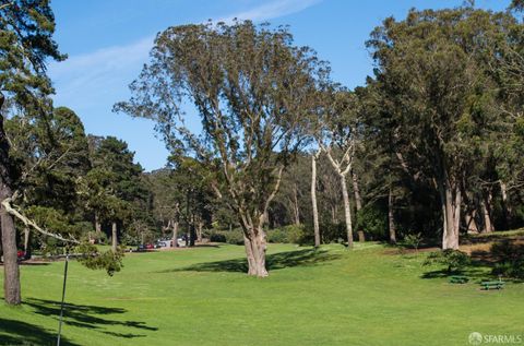
[[[0, 93], [0, 111], [5, 98]], [[0, 202], [13, 195], [9, 158], [9, 141], [3, 129], [3, 115], [0, 114]], [[3, 251], [3, 299], [8, 305], [20, 305], [20, 272], [16, 249], [16, 229], [13, 216], [3, 206], [0, 208]]]

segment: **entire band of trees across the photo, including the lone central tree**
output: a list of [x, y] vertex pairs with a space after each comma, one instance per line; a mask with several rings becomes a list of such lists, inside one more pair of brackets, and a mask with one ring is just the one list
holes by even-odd
[[[354, 90], [297, 47], [286, 27], [235, 22], [169, 27], [115, 110], [152, 119], [171, 153], [143, 172], [128, 145], [87, 135], [55, 108], [45, 0], [0, 2], [0, 196], [4, 297], [20, 303], [16, 249], [80, 247], [119, 270], [119, 243], [239, 229], [249, 274], [266, 276], [267, 230], [305, 243], [524, 225], [524, 26], [464, 5], [389, 17], [366, 43], [374, 73]], [[202, 131], [188, 128], [194, 106]], [[190, 121], [194, 121], [190, 120]], [[111, 251], [96, 252], [96, 242]]]

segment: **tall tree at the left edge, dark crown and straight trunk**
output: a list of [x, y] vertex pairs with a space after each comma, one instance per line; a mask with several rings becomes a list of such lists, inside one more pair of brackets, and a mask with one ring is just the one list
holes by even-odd
[[[3, 129], [4, 104], [35, 117], [49, 110], [52, 93], [46, 75], [48, 59], [63, 60], [52, 39], [55, 17], [47, 0], [0, 1], [0, 200], [13, 193], [10, 144]], [[5, 103], [8, 99], [8, 103]], [[20, 274], [16, 262], [16, 232], [13, 216], [0, 212], [4, 259], [4, 299], [17, 305]]]

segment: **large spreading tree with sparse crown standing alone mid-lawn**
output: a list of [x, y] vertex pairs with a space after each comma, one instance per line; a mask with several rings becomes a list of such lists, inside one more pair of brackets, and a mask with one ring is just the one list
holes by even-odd
[[[325, 64], [310, 48], [294, 46], [285, 27], [175, 26], [156, 37], [150, 63], [130, 86], [132, 98], [116, 109], [154, 119], [171, 150], [183, 143], [218, 162], [223, 183], [214, 189], [228, 195], [243, 230], [248, 274], [266, 276], [264, 215], [305, 143], [302, 128], [326, 77]], [[201, 135], [184, 122], [184, 102], [196, 110]]]

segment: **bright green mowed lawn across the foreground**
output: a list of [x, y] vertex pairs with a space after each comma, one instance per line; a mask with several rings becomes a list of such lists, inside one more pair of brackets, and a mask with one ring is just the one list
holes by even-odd
[[[524, 334], [524, 284], [452, 285], [427, 253], [270, 244], [271, 276], [243, 248], [132, 253], [109, 277], [71, 262], [62, 345], [468, 345]], [[63, 262], [22, 266], [22, 307], [0, 305], [0, 345], [52, 345]]]

